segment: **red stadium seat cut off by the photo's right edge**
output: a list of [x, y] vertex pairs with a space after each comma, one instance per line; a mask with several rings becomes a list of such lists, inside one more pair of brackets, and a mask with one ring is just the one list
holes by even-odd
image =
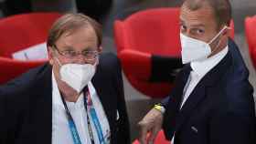
[[256, 68], [256, 15], [252, 17], [246, 17], [245, 35], [249, 46], [251, 61], [254, 68]]

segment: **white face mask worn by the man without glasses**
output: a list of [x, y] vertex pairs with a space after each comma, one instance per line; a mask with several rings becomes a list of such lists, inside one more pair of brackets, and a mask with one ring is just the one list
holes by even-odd
[[[204, 41], [191, 38], [180, 33], [180, 42], [181, 42], [181, 55], [182, 55], [182, 63], [187, 64], [193, 61], [199, 61], [207, 59], [208, 56], [212, 53], [210, 44], [227, 28], [224, 26], [219, 34], [214, 36], [209, 43]], [[219, 41], [220, 42], [220, 41]], [[218, 44], [219, 46], [219, 44]], [[216, 46], [216, 47], [218, 47]]]

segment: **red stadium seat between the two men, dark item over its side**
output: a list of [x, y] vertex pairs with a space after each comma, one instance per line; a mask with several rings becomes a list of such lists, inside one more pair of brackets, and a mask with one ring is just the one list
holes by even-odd
[[115, 21], [114, 39], [123, 72], [144, 95], [164, 98], [169, 94], [171, 83], [149, 81], [151, 61], [153, 56], [180, 58], [179, 33], [179, 8], [144, 10]]

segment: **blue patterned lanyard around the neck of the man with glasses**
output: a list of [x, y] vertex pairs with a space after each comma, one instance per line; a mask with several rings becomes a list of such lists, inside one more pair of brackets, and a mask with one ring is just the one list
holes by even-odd
[[[91, 114], [91, 118], [93, 120], [95, 129], [97, 130], [97, 134], [98, 134], [100, 143], [105, 144], [105, 140], [103, 138], [103, 134], [102, 134], [102, 129], [101, 129], [101, 124], [100, 124], [99, 118], [97, 117], [95, 108], [93, 108], [93, 106], [92, 106], [92, 101], [89, 101], [89, 100], [91, 100], [91, 95], [90, 95], [90, 92], [89, 92], [89, 88], [86, 87], [85, 89], [87, 89], [87, 91], [86, 91], [86, 98], [84, 98], [84, 106], [85, 106], [86, 111], [87, 111], [87, 115], [86, 116], [87, 116], [87, 124], [88, 124], [91, 144], [95, 144], [95, 142], [94, 142], [94, 139], [93, 139], [93, 134], [92, 134], [92, 129], [91, 129], [91, 122], [90, 122], [90, 118], [89, 118], [89, 113]], [[72, 139], [74, 141], [74, 144], [81, 144], [78, 130], [76, 128], [74, 119], [72, 118], [72, 116], [71, 116], [71, 114], [69, 112], [69, 108], [67, 106], [67, 103], [66, 103], [66, 101], [64, 100], [64, 98], [62, 96], [61, 96], [61, 99], [62, 99], [62, 102], [63, 102], [64, 107], [66, 109], [66, 114], [67, 114], [67, 118], [68, 118], [68, 121], [69, 121], [69, 130], [70, 130], [70, 132], [72, 134]], [[88, 111], [88, 109], [90, 111]]]

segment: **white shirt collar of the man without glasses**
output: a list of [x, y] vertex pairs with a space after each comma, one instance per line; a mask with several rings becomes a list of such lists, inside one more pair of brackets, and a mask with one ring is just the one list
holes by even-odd
[[218, 54], [201, 61], [191, 62], [190, 66], [199, 77], [204, 77], [213, 67], [219, 64], [219, 62], [228, 54], [228, 51], [229, 46], [226, 46]]

